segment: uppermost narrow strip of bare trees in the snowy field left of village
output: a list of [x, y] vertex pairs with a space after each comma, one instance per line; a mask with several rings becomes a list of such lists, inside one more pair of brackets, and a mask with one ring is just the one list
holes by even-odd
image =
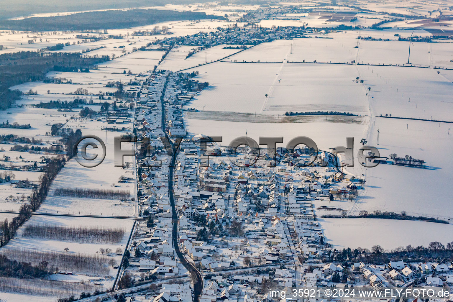
[[86, 188], [57, 188], [55, 196], [97, 198], [97, 199], [128, 199], [130, 192], [114, 189], [86, 189]]

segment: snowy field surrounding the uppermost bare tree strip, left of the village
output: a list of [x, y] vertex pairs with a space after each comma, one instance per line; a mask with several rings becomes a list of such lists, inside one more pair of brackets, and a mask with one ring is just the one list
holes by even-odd
[[[104, 161], [95, 168], [85, 168], [81, 166], [75, 158], [69, 160], [65, 167], [58, 173], [54, 179], [48, 197], [40, 206], [40, 212], [59, 213], [64, 214], [77, 214], [80, 212], [82, 215], [108, 215], [108, 216], [134, 216], [136, 213], [135, 201], [120, 201], [120, 200], [105, 200], [105, 199], [90, 199], [90, 198], [76, 198], [76, 197], [61, 197], [53, 194], [56, 188], [92, 188], [92, 189], [118, 189], [130, 192], [130, 198], [135, 197], [134, 182], [118, 183], [121, 175], [125, 177], [134, 178], [134, 168], [123, 169], [121, 167], [114, 167], [114, 152], [113, 141], [114, 137], [125, 134], [125, 132], [112, 132], [101, 130], [102, 126], [107, 125], [105, 122], [98, 121], [74, 121], [70, 120], [67, 124], [74, 129], [79, 125], [83, 125], [83, 135], [96, 135], [106, 143], [106, 158]], [[131, 125], [122, 125], [130, 128]], [[131, 128], [130, 128], [131, 131]], [[122, 149], [132, 149], [132, 143], [122, 143]], [[88, 153], [91, 147], [87, 149]], [[100, 149], [100, 148], [99, 148]], [[92, 149], [91, 149], [92, 150]], [[100, 156], [101, 154], [99, 154]], [[125, 156], [125, 162], [131, 162], [132, 158]], [[113, 187], [115, 185], [115, 187]]]

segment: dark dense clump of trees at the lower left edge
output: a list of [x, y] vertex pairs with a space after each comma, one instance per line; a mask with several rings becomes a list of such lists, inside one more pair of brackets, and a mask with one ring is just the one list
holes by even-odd
[[14, 278], [43, 278], [53, 269], [48, 267], [47, 261], [41, 261], [37, 265], [27, 262], [17, 262], [8, 259], [5, 255], [0, 254], [0, 276]]

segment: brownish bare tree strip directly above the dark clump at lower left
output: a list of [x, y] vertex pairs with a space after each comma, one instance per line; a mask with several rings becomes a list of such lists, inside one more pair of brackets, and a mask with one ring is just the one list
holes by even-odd
[[81, 254], [57, 251], [41, 251], [38, 249], [8, 248], [0, 253], [19, 262], [39, 264], [51, 260], [55, 271], [95, 274], [106, 276], [109, 274], [110, 257], [100, 254]]

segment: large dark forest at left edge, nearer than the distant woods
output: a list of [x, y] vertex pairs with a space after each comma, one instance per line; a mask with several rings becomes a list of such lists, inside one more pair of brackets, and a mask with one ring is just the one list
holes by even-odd
[[9, 87], [29, 81], [43, 81], [52, 70], [93, 68], [109, 56], [82, 58], [79, 53], [18, 52], [0, 54], [0, 110], [6, 110], [22, 95]]

